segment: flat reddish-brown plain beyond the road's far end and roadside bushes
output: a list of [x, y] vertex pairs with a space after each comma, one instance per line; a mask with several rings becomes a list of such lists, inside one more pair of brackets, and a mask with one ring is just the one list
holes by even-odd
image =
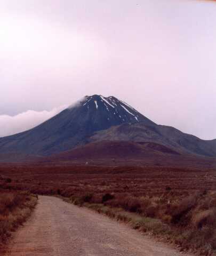
[[2, 187], [38, 194], [55, 194], [60, 189], [67, 196], [82, 191], [161, 195], [167, 186], [182, 195], [216, 190], [216, 172], [211, 168], [1, 164], [0, 173]]

